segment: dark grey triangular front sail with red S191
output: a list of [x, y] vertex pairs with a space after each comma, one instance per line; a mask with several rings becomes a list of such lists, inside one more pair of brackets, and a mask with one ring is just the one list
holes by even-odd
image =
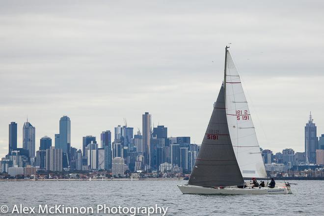
[[189, 178], [189, 185], [213, 187], [244, 184], [228, 131], [224, 98], [222, 85]]

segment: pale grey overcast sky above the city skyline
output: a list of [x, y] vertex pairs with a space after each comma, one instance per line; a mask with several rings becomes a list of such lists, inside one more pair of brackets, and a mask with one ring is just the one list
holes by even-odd
[[324, 1], [0, 1], [0, 157], [28, 115], [39, 139], [71, 119], [71, 145], [142, 114], [200, 144], [223, 79], [241, 74], [259, 144], [304, 151], [324, 134]]

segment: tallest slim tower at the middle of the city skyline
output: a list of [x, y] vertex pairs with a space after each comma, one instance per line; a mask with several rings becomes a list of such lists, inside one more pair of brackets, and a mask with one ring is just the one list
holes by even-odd
[[143, 156], [146, 165], [151, 162], [151, 115], [148, 112], [142, 115]]

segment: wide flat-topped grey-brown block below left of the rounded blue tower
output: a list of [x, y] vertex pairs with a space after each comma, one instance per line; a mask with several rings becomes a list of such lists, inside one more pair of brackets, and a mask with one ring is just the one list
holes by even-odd
[[58, 171], [63, 170], [63, 151], [62, 149], [55, 149], [53, 146], [46, 150], [46, 170]]

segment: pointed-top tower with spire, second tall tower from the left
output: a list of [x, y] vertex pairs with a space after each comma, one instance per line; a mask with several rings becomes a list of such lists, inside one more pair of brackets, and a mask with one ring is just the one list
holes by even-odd
[[23, 127], [23, 148], [28, 150], [30, 158], [35, 157], [35, 127], [27, 119]]

